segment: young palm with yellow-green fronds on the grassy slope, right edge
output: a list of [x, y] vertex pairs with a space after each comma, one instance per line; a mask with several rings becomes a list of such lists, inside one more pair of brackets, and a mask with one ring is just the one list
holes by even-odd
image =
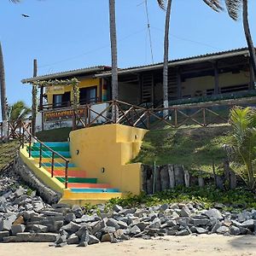
[[236, 107], [230, 110], [231, 169], [254, 189], [256, 183], [256, 111]]

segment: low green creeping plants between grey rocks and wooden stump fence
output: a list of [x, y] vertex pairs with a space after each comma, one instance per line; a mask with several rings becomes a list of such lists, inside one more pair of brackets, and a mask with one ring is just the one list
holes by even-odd
[[[200, 187], [176, 187], [154, 195], [126, 195], [124, 198], [113, 198], [106, 203], [106, 212], [112, 209], [113, 205], [121, 207], [153, 207], [164, 203], [189, 203], [197, 202], [203, 207], [215, 207], [216, 204], [223, 204], [224, 210], [237, 211], [247, 208], [255, 208], [255, 194], [244, 188], [233, 190], [220, 190], [214, 186]], [[84, 206], [85, 212], [97, 209], [96, 206], [87, 204]]]

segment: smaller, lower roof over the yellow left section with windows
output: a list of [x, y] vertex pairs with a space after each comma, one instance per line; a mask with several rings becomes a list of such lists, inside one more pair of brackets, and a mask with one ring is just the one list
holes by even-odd
[[30, 79], [23, 79], [23, 80], [21, 80], [21, 83], [29, 84], [33, 81], [62, 79], [65, 77], [72, 77], [72, 76], [77, 76], [77, 75], [80, 76], [80, 75], [86, 75], [86, 74], [90, 74], [90, 73], [100, 73], [100, 72], [107, 71], [109, 69], [110, 69], [110, 67], [108, 67], [108, 66], [84, 67], [84, 68], [64, 71], [64, 72], [60, 72], [60, 73], [49, 73], [49, 74], [45, 74], [43, 76], [38, 76], [35, 78], [30, 78]]

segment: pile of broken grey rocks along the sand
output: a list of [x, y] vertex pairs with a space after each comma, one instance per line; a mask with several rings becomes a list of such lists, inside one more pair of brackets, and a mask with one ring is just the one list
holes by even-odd
[[219, 204], [207, 210], [199, 203], [177, 203], [128, 209], [116, 205], [106, 212], [100, 205], [88, 215], [82, 207], [49, 206], [34, 192], [26, 194], [22, 187], [0, 194], [0, 241], [86, 247], [131, 237], [256, 234], [256, 210], [235, 213], [222, 211]]

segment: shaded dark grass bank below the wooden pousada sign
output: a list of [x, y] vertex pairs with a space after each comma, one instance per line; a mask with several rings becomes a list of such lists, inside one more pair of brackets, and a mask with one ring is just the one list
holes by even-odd
[[39, 131], [36, 137], [42, 142], [67, 142], [70, 131], [72, 131], [71, 127]]

